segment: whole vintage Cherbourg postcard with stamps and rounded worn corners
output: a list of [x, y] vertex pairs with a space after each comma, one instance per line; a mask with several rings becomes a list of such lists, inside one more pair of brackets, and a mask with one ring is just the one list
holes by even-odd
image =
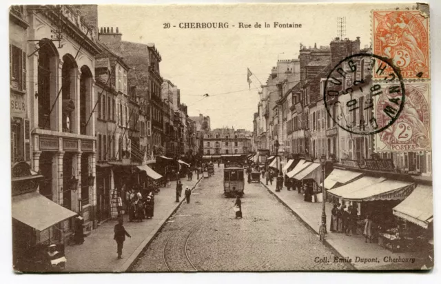
[[431, 270], [429, 17], [10, 6], [14, 272]]

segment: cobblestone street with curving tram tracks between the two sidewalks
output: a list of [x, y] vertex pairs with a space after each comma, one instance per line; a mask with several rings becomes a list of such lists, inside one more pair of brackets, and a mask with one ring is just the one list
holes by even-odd
[[134, 272], [351, 270], [258, 183], [245, 182], [243, 219], [223, 196], [223, 168], [203, 179], [132, 265]]

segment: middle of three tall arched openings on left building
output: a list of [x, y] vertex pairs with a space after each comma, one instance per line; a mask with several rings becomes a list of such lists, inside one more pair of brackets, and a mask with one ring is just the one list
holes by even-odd
[[63, 132], [76, 133], [76, 77], [78, 65], [71, 54], [63, 56], [61, 97], [63, 98]]

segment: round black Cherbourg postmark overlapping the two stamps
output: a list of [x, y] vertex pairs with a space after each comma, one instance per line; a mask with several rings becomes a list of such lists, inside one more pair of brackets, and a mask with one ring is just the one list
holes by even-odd
[[[331, 69], [323, 82], [323, 102], [334, 123], [347, 132], [369, 135], [397, 121], [405, 89], [400, 69], [391, 62], [376, 54], [358, 53]], [[382, 79], [373, 80], [373, 74]], [[376, 117], [379, 114], [382, 119]]]

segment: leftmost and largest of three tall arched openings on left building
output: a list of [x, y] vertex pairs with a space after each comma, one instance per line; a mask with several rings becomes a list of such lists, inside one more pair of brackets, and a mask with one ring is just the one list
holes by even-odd
[[39, 41], [37, 99], [39, 128], [57, 130], [57, 113], [52, 112], [52, 103], [57, 98], [59, 53], [49, 39]]

